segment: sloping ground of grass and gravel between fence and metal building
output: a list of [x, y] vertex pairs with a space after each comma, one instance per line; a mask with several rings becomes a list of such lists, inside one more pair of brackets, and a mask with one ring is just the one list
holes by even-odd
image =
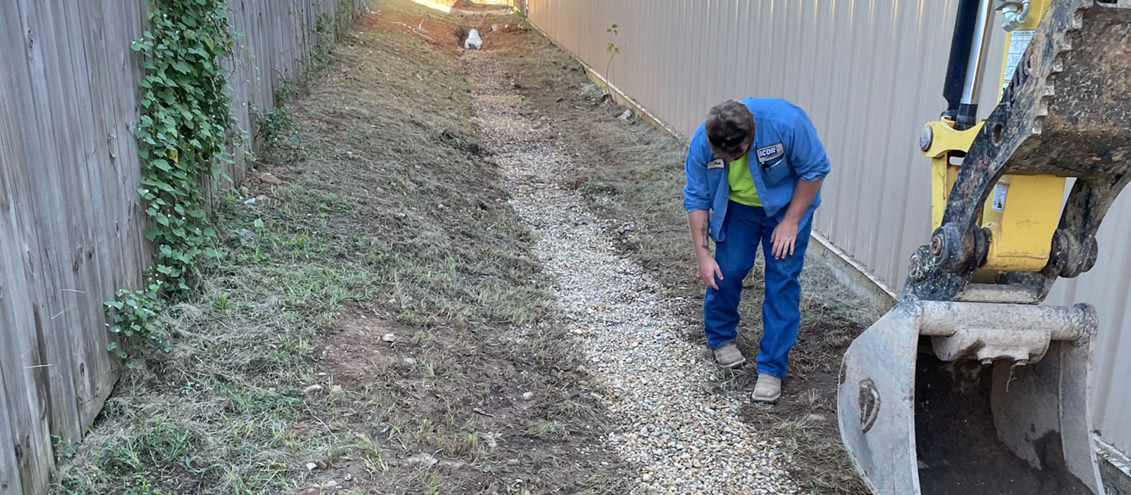
[[685, 146], [523, 19], [377, 1], [282, 96], [226, 255], [55, 493], [863, 493], [835, 373], [878, 310], [811, 260], [752, 406], [701, 341]]

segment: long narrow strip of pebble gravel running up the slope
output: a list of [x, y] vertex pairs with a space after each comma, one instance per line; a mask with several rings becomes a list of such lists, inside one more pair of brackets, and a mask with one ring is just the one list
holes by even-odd
[[638, 468], [636, 481], [650, 493], [798, 493], [776, 441], [739, 418], [746, 398], [711, 391], [719, 370], [680, 337], [681, 320], [657, 284], [619, 254], [611, 242], [616, 227], [563, 185], [573, 170], [570, 154], [546, 116], [523, 114], [501, 57], [465, 53], [474, 115], [507, 177], [509, 202], [555, 279], [561, 318], [607, 391], [615, 425], [601, 448]]

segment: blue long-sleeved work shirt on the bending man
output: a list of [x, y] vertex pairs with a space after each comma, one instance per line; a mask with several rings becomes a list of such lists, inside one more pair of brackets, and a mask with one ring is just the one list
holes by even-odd
[[[817, 129], [805, 111], [783, 98], [744, 98], [742, 103], [754, 114], [754, 142], [746, 151], [750, 176], [766, 215], [778, 222], [793, 199], [798, 180], [815, 181], [829, 173], [829, 157], [817, 137]], [[683, 208], [688, 211], [710, 210], [710, 235], [716, 242], [725, 237], [723, 218], [731, 196], [726, 177], [726, 160], [716, 158], [707, 141], [706, 121], [691, 137], [684, 163], [688, 183], [683, 188]], [[821, 203], [818, 190], [800, 224], [804, 225]]]

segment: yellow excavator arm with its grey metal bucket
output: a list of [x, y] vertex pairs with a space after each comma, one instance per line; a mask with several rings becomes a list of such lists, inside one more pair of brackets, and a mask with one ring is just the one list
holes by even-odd
[[[1042, 302], [1093, 268], [1131, 180], [1131, 0], [956, 8], [947, 108], [920, 137], [934, 229], [898, 303], [845, 353], [841, 438], [874, 494], [1103, 495], [1096, 311]], [[1001, 93], [979, 119], [999, 18]]]

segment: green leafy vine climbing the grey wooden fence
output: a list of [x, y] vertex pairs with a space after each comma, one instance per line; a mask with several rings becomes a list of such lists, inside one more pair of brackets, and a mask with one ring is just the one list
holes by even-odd
[[[201, 257], [219, 257], [205, 186], [233, 163], [241, 136], [221, 61], [235, 43], [224, 0], [150, 0], [149, 31], [132, 44], [145, 75], [140, 119], [133, 129], [141, 158], [147, 228], [155, 248], [140, 289], [121, 289], [106, 303], [110, 331], [124, 344], [169, 350], [158, 315], [192, 288]], [[111, 342], [107, 350], [126, 358]]]

